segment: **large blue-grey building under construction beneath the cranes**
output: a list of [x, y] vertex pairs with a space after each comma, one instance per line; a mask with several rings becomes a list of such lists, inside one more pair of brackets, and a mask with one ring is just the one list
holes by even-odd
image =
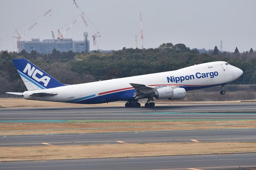
[[[32, 38], [31, 41], [19, 41], [18, 52], [23, 49], [30, 53], [31, 50], [35, 50], [38, 53], [52, 53], [55, 48], [60, 52], [78, 52], [90, 51], [90, 41], [73, 41], [71, 38], [61, 39], [61, 40], [43, 40], [40, 41], [39, 38]], [[87, 48], [86, 48], [87, 45]]]

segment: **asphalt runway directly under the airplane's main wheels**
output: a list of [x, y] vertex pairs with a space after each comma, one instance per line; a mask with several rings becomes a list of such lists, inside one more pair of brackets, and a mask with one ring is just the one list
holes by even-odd
[[[206, 113], [208, 112], [208, 113]], [[227, 112], [221, 114], [221, 112]], [[196, 114], [197, 113], [197, 114]], [[200, 114], [203, 113], [203, 114]], [[230, 114], [235, 113], [235, 114]], [[0, 121], [256, 119], [256, 104], [0, 109]]]

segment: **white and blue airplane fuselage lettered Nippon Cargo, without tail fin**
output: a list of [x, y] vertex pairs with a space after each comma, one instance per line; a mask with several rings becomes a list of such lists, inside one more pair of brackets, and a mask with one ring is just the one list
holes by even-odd
[[[222, 85], [239, 78], [243, 71], [226, 62], [210, 62], [174, 71], [117, 78], [91, 83], [66, 85], [43, 90], [31, 90], [23, 93], [28, 100], [96, 104], [133, 99], [135, 89], [129, 83], [149, 86], [182, 87], [186, 91]], [[181, 82], [182, 81], [182, 82]], [[48, 97], [29, 96], [35, 92], [54, 92]]]

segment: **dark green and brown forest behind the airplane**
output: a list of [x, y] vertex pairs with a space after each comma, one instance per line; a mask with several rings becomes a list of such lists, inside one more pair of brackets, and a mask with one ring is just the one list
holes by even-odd
[[226, 61], [244, 71], [233, 84], [256, 84], [256, 51], [249, 49], [239, 52], [234, 48], [234, 52], [221, 52], [216, 46], [213, 50], [205, 50], [190, 49], [185, 44], [163, 43], [158, 48], [124, 47], [111, 53], [60, 53], [56, 49], [51, 54], [39, 54], [34, 50], [30, 53], [24, 50], [20, 53], [1, 51], [0, 92], [27, 90], [11, 61], [23, 57], [64, 84], [171, 71], [212, 61]]

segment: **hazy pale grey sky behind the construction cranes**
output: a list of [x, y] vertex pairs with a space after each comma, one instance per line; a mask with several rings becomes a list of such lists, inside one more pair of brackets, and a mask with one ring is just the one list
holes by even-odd
[[[100, 31], [101, 49], [135, 48], [135, 35], [140, 47], [140, 13], [144, 48], [156, 48], [164, 42], [184, 43], [190, 48], [240, 52], [256, 50], [255, 0], [76, 0], [84, 13]], [[21, 38], [52, 39], [57, 30], [76, 18], [79, 13], [72, 0], [0, 0], [0, 50], [13, 51], [15, 29], [52, 9], [30, 32]], [[90, 22], [86, 18], [88, 24]], [[35, 20], [36, 21], [36, 20]], [[33, 23], [20, 29], [20, 33]], [[67, 28], [61, 29], [61, 32]], [[83, 40], [88, 30], [83, 20], [64, 38]], [[90, 28], [91, 32], [95, 32]], [[90, 49], [92, 38], [90, 36]], [[99, 39], [98, 39], [99, 43]]]

